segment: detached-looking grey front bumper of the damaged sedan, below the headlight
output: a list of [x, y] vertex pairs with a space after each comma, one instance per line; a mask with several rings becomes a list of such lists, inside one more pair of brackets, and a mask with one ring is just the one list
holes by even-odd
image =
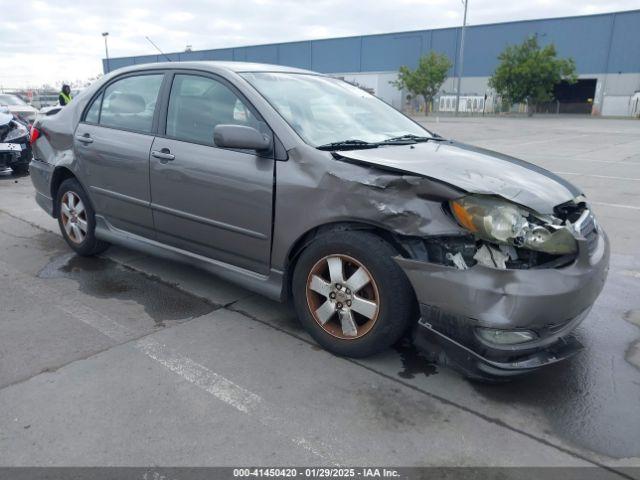
[[[469, 376], [509, 377], [580, 351], [570, 334], [589, 313], [609, 270], [609, 242], [578, 241], [574, 262], [562, 268], [460, 270], [396, 258], [420, 303], [415, 342]], [[496, 344], [478, 329], [529, 331], [535, 339]]]

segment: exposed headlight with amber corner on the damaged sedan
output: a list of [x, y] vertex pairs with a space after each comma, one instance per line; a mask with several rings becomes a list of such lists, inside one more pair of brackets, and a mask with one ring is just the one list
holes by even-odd
[[469, 195], [449, 203], [458, 223], [488, 242], [514, 245], [554, 255], [573, 254], [578, 244], [571, 231], [553, 217], [544, 217], [506, 200]]

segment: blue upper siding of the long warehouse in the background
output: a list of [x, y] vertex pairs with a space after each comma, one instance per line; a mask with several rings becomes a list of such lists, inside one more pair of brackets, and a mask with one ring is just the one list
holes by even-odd
[[[471, 26], [465, 40], [464, 76], [489, 76], [509, 44], [538, 35], [561, 56], [576, 61], [578, 73], [640, 72], [640, 10], [582, 17]], [[172, 60], [236, 60], [307, 68], [323, 73], [396, 71], [415, 67], [420, 55], [444, 53], [457, 74], [460, 28], [365, 35], [272, 45], [171, 53]], [[113, 58], [111, 70], [155, 61], [162, 55]], [[103, 61], [106, 70], [106, 61]]]

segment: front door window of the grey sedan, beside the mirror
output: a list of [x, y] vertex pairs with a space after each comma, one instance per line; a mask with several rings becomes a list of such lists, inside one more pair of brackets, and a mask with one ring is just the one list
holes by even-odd
[[259, 122], [245, 103], [226, 85], [207, 77], [176, 75], [167, 112], [167, 136], [213, 145], [216, 125]]

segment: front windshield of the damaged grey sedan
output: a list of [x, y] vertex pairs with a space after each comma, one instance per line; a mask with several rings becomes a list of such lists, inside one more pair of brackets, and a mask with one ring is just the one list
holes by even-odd
[[244, 73], [243, 77], [314, 147], [430, 135], [382, 100], [342, 80], [297, 73]]

